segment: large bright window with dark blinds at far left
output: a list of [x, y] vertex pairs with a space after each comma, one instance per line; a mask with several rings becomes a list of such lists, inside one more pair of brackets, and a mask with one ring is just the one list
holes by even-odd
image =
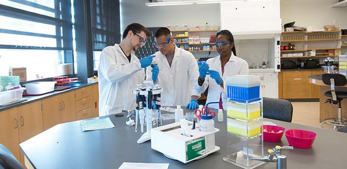
[[70, 0], [0, 0], [0, 76], [11, 67], [25, 67], [28, 81], [73, 74], [71, 13]]

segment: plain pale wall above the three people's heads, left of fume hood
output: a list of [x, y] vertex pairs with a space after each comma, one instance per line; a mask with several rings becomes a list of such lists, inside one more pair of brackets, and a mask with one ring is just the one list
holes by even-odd
[[220, 5], [192, 4], [177, 6], [145, 5], [147, 0], [120, 0], [120, 31], [137, 22], [145, 27], [161, 27], [165, 24], [203, 24], [217, 23], [220, 25]]

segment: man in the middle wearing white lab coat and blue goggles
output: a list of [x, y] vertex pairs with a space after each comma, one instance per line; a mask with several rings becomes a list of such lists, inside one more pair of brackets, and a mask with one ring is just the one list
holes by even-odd
[[177, 47], [173, 43], [170, 30], [159, 28], [155, 32], [154, 45], [159, 49], [155, 60], [158, 61], [158, 71], [147, 68], [147, 80], [159, 84], [161, 106], [186, 105], [186, 108], [198, 108], [197, 99], [200, 94], [196, 91], [198, 66], [193, 54]]

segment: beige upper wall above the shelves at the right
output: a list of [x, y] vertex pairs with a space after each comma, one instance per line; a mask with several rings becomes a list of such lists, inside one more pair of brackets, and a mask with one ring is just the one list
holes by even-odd
[[295, 21], [296, 26], [312, 26], [323, 29], [324, 25], [336, 24], [347, 29], [347, 7], [331, 7], [338, 0], [281, 0], [282, 23]]

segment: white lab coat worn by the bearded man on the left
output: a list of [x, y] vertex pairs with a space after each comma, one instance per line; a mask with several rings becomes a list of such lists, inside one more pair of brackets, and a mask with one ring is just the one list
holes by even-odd
[[132, 90], [143, 82], [145, 71], [134, 51], [129, 63], [118, 44], [105, 47], [100, 55], [98, 76], [99, 116], [135, 110]]

